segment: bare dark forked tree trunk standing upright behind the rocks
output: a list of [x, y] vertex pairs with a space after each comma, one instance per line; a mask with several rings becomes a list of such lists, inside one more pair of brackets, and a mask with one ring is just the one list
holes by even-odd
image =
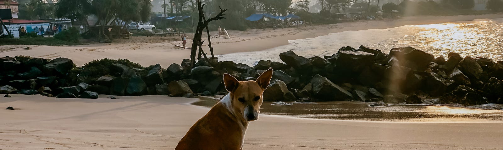
[[[203, 11], [204, 4], [201, 2], [201, 0], [197, 0], [197, 9], [199, 11], [199, 21], [197, 22], [196, 32], [194, 33], [194, 40], [192, 42], [192, 47], [191, 47], [191, 68], [193, 68], [194, 65], [196, 64], [196, 55], [199, 54], [198, 57], [200, 58], [201, 54], [202, 54], [202, 55], [204, 55], [205, 59], [208, 59], [208, 57], [206, 56], [206, 53], [204, 53], [203, 48], [202, 48], [202, 45], [203, 45], [202, 34], [203, 34], [204, 28], [206, 28], [206, 32], [208, 33], [208, 42], [209, 42], [208, 46], [210, 47], [211, 56], [214, 57], [213, 47], [211, 47], [211, 42], [210, 42], [208, 23], [213, 20], [225, 18], [225, 17], [222, 17], [223, 15], [225, 15], [225, 14], [223, 14], [223, 12], [227, 11], [227, 9], [222, 9], [220, 6], [218, 6], [218, 7], [220, 8], [220, 13], [218, 13], [215, 17], [211, 17], [208, 20], [206, 20], [206, 17], [204, 16], [204, 11]], [[198, 53], [198, 51], [199, 51], [199, 53]]]

